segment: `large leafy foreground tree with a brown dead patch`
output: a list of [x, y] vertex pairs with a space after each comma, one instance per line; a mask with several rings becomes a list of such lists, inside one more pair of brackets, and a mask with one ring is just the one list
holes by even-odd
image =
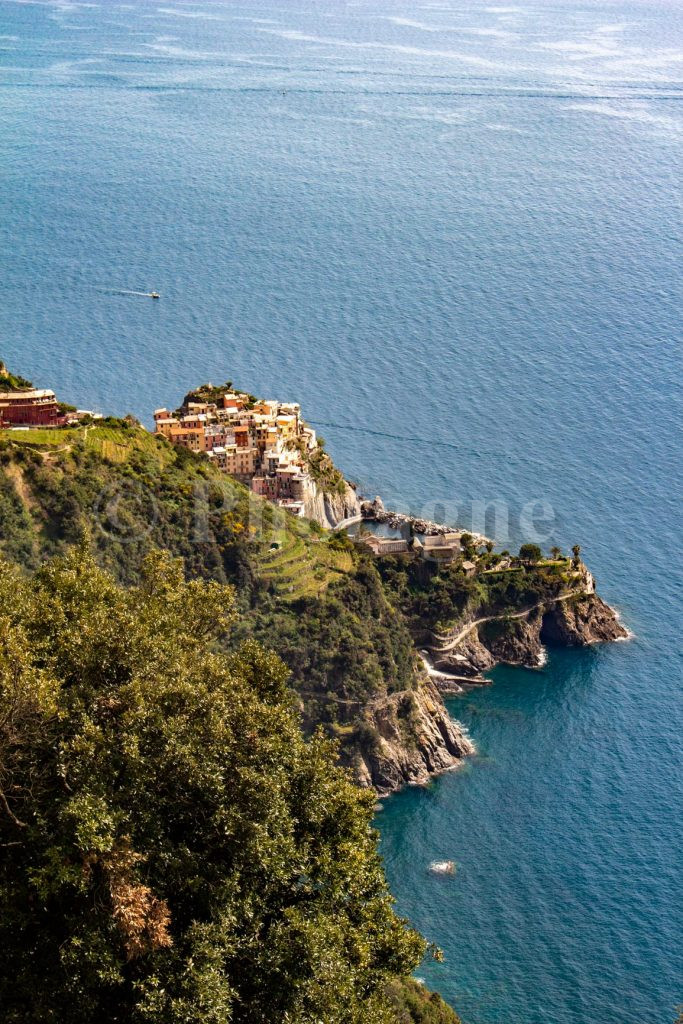
[[424, 944], [372, 797], [302, 738], [278, 657], [220, 652], [230, 588], [156, 554], [123, 590], [81, 551], [2, 564], [0, 609], [7, 1024], [449, 1019], [396, 1016]]

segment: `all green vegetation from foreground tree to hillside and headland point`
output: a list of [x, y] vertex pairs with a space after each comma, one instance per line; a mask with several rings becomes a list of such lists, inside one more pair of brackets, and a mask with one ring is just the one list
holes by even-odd
[[0, 432], [3, 1020], [458, 1024], [326, 734], [398, 692], [410, 746], [421, 631], [580, 580], [464, 547], [375, 559], [131, 421]]

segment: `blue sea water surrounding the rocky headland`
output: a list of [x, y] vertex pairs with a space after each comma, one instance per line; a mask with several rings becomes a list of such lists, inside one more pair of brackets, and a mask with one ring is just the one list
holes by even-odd
[[682, 100], [664, 0], [0, 0], [5, 361], [299, 399], [388, 504], [579, 541], [635, 633], [454, 700], [478, 756], [378, 816], [468, 1024], [683, 1001]]

